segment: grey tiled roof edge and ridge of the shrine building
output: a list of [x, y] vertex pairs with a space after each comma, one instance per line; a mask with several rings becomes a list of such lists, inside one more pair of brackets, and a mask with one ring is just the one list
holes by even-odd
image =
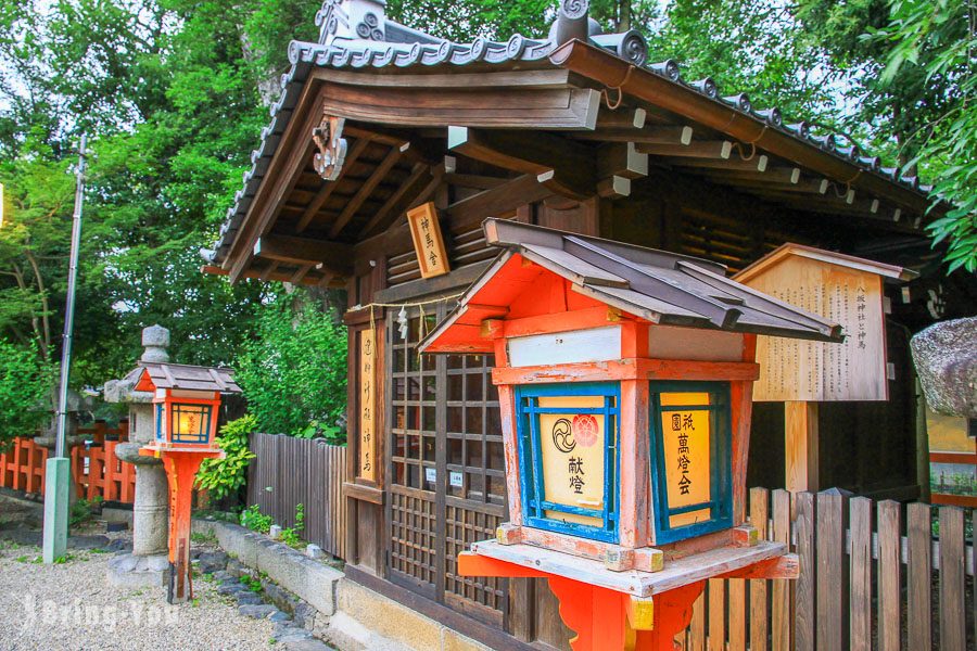
[[[320, 27], [319, 42], [292, 41], [289, 44], [291, 67], [281, 77], [281, 95], [271, 104], [271, 122], [262, 130], [261, 143], [251, 154], [252, 166], [244, 173], [243, 187], [234, 195], [234, 204], [227, 212], [227, 219], [220, 228], [218, 241], [213, 251], [201, 251], [211, 263], [221, 263], [227, 250], [251, 202], [261, 186], [272, 156], [278, 150], [282, 135], [292, 117], [302, 89], [314, 68], [383, 68], [417, 66], [468, 66], [511, 65], [515, 63], [540, 62], [549, 64], [548, 55], [560, 42], [557, 24], [546, 39], [532, 39], [519, 34], [507, 41], [491, 41], [478, 38], [470, 43], [457, 43], [439, 39], [429, 34], [411, 29], [383, 15], [382, 0], [326, 0], [316, 15]], [[881, 174], [894, 183], [928, 193], [930, 187], [921, 186], [916, 177], [905, 177], [894, 167], [883, 167], [877, 156], [864, 154], [854, 144], [846, 144], [845, 139], [834, 133], [815, 133], [805, 122], [785, 124], [776, 107], [758, 110], [745, 92], [724, 94], [710, 78], [687, 80], [675, 61], [646, 63], [648, 47], [644, 36], [637, 30], [623, 34], [600, 34], [600, 28], [586, 17], [587, 2], [562, 0], [563, 14], [578, 11], [583, 5], [583, 21], [586, 39], [621, 59], [644, 66], [651, 73], [673, 84], [685, 86], [696, 92], [720, 102], [739, 113], [765, 123], [798, 140], [805, 141], [864, 170]], [[563, 14], [559, 20], [562, 20]], [[579, 16], [578, 16], [579, 17]], [[551, 64], [550, 64], [551, 65]]]

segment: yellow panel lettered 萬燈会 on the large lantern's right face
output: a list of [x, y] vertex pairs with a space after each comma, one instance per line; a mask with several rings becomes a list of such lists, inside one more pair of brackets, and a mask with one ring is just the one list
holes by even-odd
[[[661, 434], [669, 509], [708, 502], [712, 495], [708, 393], [663, 393]], [[669, 518], [669, 526], [703, 522], [710, 509], [697, 509]]]

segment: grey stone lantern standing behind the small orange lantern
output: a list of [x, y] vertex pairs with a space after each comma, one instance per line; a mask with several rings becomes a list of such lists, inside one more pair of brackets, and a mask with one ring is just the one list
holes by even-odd
[[[169, 361], [169, 331], [151, 326], [142, 331], [142, 361]], [[136, 391], [141, 369], [105, 383], [105, 401], [129, 405], [129, 442], [115, 447], [115, 456], [136, 465], [132, 505], [132, 552], [109, 562], [109, 580], [127, 587], [165, 585], [169, 567], [169, 492], [163, 461], [139, 455], [153, 439], [153, 394]]]

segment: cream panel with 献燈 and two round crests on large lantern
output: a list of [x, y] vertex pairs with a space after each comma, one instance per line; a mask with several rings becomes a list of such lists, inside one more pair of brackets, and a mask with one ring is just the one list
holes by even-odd
[[[600, 409], [604, 396], [541, 397], [540, 408]], [[546, 501], [604, 509], [605, 422], [600, 413], [541, 413], [540, 448]], [[546, 518], [600, 526], [600, 518], [546, 511]]]

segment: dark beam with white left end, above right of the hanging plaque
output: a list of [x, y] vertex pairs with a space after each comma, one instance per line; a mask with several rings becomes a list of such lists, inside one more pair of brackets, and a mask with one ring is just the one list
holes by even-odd
[[534, 175], [564, 196], [586, 199], [596, 192], [591, 149], [553, 133], [448, 127], [448, 149], [503, 169]]

